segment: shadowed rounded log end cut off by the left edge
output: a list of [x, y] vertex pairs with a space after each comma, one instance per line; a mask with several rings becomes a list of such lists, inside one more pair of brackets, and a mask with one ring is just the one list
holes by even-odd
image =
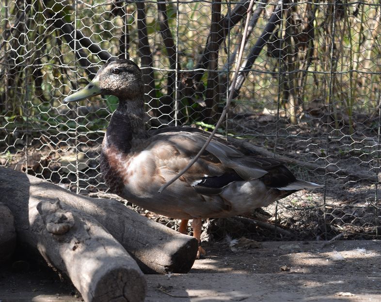
[[0, 202], [0, 263], [11, 258], [16, 247], [15, 222], [11, 210]]

